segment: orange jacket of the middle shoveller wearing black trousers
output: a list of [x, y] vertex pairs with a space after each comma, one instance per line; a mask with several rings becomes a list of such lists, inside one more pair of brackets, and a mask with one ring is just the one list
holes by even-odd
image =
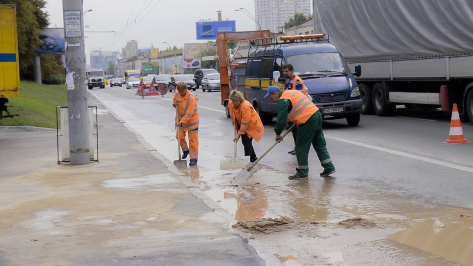
[[235, 108], [231, 100], [228, 101], [228, 109], [232, 116], [232, 121], [238, 130], [238, 134], [248, 134], [259, 142], [265, 133], [265, 127], [261, 122], [261, 118], [256, 112], [253, 105], [247, 100], [240, 103], [238, 108]]

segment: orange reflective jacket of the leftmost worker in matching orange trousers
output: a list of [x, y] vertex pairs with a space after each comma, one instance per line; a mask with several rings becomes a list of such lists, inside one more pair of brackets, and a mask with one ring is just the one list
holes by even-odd
[[179, 114], [179, 118], [176, 117], [175, 119], [176, 123], [178, 121], [182, 122], [184, 131], [191, 131], [199, 127], [199, 110], [194, 95], [189, 90], [184, 96], [176, 91], [172, 101], [174, 100], [177, 100], [177, 113]]

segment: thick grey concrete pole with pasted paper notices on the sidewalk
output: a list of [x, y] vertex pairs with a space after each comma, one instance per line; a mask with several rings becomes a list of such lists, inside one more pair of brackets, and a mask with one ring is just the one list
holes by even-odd
[[89, 159], [89, 117], [84, 83], [85, 47], [82, 0], [63, 0], [64, 32], [68, 43], [66, 69], [74, 86], [68, 84], [70, 164], [85, 165]]

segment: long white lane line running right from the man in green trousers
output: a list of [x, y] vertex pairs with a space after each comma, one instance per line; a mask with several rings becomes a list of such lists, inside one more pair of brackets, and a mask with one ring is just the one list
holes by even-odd
[[377, 150], [377, 151], [387, 152], [387, 153], [403, 156], [403, 157], [406, 157], [406, 158], [419, 160], [419, 161], [426, 162], [426, 163], [431, 163], [431, 164], [435, 164], [435, 165], [439, 165], [439, 166], [445, 166], [445, 167], [449, 167], [449, 168], [453, 168], [453, 169], [473, 173], [473, 168], [468, 167], [468, 166], [461, 166], [461, 165], [457, 165], [457, 164], [447, 163], [447, 162], [439, 161], [439, 160], [436, 160], [436, 159], [431, 159], [431, 158], [427, 158], [427, 157], [423, 157], [423, 156], [419, 156], [419, 155], [414, 155], [414, 154], [410, 154], [410, 153], [406, 153], [406, 152], [396, 151], [396, 150], [383, 148], [383, 147], [379, 147], [379, 146], [375, 146], [375, 145], [371, 145], [371, 144], [365, 144], [365, 143], [361, 143], [361, 142], [353, 141], [353, 140], [349, 140], [349, 139], [333, 137], [333, 136], [325, 136], [325, 137], [329, 138], [329, 139], [338, 140], [338, 141], [341, 141], [341, 142], [350, 143], [350, 144], [353, 144], [353, 145], [358, 145], [358, 146], [361, 146], [361, 147]]

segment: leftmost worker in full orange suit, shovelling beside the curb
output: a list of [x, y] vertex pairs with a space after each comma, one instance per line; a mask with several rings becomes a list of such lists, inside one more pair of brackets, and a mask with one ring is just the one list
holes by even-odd
[[[182, 148], [182, 159], [190, 155], [190, 166], [197, 164], [199, 157], [199, 111], [197, 110], [196, 98], [187, 89], [184, 82], [177, 83], [177, 92], [174, 93], [172, 106], [177, 107], [178, 117], [176, 126], [179, 127], [179, 143]], [[189, 137], [189, 147], [186, 142], [186, 132]], [[176, 133], [177, 138], [177, 133]]]

